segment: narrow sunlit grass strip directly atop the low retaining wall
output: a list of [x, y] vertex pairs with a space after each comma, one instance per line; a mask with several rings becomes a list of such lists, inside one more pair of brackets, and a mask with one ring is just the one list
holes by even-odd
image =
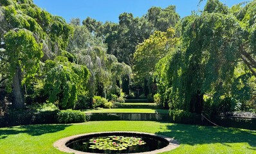
[[103, 108], [100, 110], [87, 110], [86, 113], [160, 113], [168, 114], [169, 110], [151, 108]]

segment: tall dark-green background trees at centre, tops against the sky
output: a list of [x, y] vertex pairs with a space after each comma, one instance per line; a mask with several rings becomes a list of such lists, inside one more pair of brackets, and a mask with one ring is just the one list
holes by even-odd
[[175, 6], [165, 9], [152, 7], [143, 17], [133, 17], [133, 13], [124, 12], [119, 15], [119, 23], [98, 22], [87, 17], [82, 23], [107, 44], [107, 53], [116, 56], [118, 62], [132, 66], [136, 46], [149, 39], [154, 31], [167, 31], [179, 21]]

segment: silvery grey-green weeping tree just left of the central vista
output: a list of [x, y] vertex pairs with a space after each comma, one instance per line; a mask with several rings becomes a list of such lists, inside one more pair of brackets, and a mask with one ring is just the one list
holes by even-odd
[[86, 26], [75, 22], [71, 22], [71, 25], [75, 31], [67, 49], [77, 57], [77, 64], [86, 65], [91, 73], [87, 89], [92, 106], [93, 96], [109, 96], [116, 87], [116, 81], [122, 83], [122, 77], [131, 74], [131, 67], [119, 63], [115, 56], [108, 55], [102, 39], [93, 36]]

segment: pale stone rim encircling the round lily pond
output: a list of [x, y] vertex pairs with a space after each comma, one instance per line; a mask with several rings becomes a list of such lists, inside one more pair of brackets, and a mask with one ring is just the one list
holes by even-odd
[[[165, 151], [170, 151], [170, 150], [174, 150], [175, 148], [178, 148], [179, 146], [179, 142], [167, 137], [167, 136], [163, 136], [163, 135], [158, 135], [158, 134], [154, 134], [154, 133], [143, 133], [143, 132], [97, 132], [97, 133], [84, 133], [84, 134], [79, 134], [79, 135], [73, 135], [70, 137], [66, 137], [63, 139], [60, 139], [58, 141], [56, 141], [53, 146], [57, 149], [59, 149], [60, 151], [64, 151], [66, 153], [75, 153], [75, 154], [91, 154], [91, 153], [86, 153], [86, 152], [82, 152], [82, 151], [77, 151], [77, 150], [73, 150], [71, 148], [68, 148], [66, 146], [66, 142], [71, 141], [73, 139], [76, 139], [78, 137], [81, 136], [86, 136], [86, 135], [93, 135], [93, 134], [104, 134], [104, 133], [136, 133], [136, 134], [142, 134], [142, 135], [151, 135], [153, 137], [161, 137], [163, 139], [166, 139], [169, 142], [169, 145], [166, 146], [165, 148], [161, 148], [159, 150], [154, 150], [154, 151], [147, 151], [147, 152], [143, 152], [140, 154], [156, 154], [156, 153], [162, 153]], [[133, 153], [136, 154], [136, 153]]]

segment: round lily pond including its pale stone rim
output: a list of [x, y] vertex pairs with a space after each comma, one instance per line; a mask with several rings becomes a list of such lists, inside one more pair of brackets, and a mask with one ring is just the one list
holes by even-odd
[[55, 142], [60, 151], [69, 153], [160, 153], [179, 146], [169, 137], [140, 132], [86, 133]]

